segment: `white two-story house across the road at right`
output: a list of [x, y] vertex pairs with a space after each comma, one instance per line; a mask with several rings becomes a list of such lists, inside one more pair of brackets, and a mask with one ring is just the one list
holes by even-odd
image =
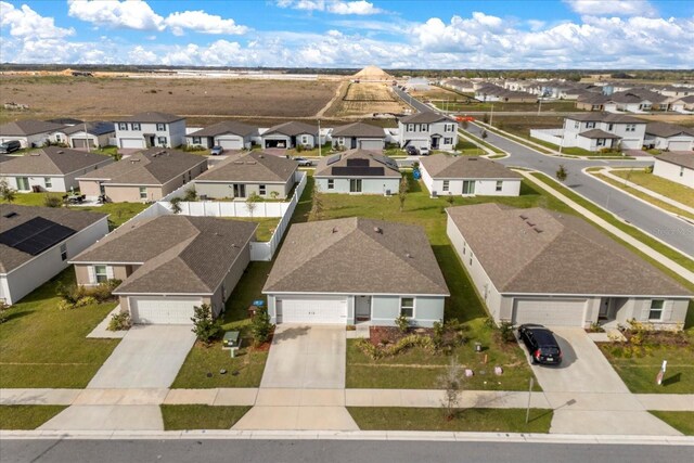
[[632, 116], [609, 113], [575, 114], [564, 119], [562, 145], [600, 151], [620, 146], [640, 150], [646, 121]]

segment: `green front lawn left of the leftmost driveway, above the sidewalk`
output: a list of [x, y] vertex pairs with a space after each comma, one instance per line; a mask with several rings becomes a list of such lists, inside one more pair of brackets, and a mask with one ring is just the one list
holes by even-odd
[[9, 310], [0, 325], [0, 387], [85, 387], [118, 344], [87, 339], [115, 303], [57, 310], [57, 282], [74, 283], [72, 267]]

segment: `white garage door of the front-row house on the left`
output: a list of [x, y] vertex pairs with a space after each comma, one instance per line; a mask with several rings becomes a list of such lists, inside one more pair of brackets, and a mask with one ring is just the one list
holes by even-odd
[[130, 317], [133, 323], [192, 324], [193, 307], [198, 297], [130, 297]]

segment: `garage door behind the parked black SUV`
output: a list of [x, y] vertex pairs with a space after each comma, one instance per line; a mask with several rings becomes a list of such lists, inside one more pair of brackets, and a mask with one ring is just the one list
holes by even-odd
[[515, 299], [513, 323], [582, 326], [586, 299]]

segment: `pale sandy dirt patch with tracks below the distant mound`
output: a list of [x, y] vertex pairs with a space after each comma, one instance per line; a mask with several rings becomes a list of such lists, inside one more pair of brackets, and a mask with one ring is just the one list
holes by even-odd
[[325, 112], [326, 116], [370, 116], [373, 113], [402, 113], [407, 106], [389, 83], [360, 82], [346, 87], [344, 95]]

